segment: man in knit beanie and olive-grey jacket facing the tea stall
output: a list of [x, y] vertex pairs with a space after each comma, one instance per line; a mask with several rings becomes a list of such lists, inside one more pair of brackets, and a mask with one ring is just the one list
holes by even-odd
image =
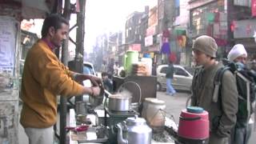
[[200, 106], [209, 113], [209, 144], [226, 144], [238, 111], [238, 91], [234, 75], [230, 70], [224, 72], [219, 91], [221, 99], [218, 97], [214, 101], [214, 77], [217, 70], [223, 67], [215, 60], [218, 46], [214, 38], [202, 35], [194, 40], [192, 50], [198, 70], [195, 70], [192, 81], [191, 105]]

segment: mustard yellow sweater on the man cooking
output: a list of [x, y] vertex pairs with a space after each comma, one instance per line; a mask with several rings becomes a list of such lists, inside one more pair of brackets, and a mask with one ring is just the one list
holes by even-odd
[[22, 126], [46, 128], [54, 125], [57, 95], [82, 94], [83, 88], [72, 80], [72, 73], [46, 42], [39, 40], [34, 44], [26, 56], [22, 75]]

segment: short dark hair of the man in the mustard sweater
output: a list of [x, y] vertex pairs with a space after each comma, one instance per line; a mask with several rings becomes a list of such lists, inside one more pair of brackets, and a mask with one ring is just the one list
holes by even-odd
[[69, 25], [69, 22], [67, 22], [66, 19], [62, 18], [62, 16], [59, 14], [50, 14], [43, 22], [41, 30], [42, 38], [46, 37], [51, 26], [53, 26], [55, 30], [58, 30], [62, 27], [62, 23]]

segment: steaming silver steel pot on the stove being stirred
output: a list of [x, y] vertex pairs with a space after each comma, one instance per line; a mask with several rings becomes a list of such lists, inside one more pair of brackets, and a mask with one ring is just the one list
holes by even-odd
[[109, 96], [108, 109], [114, 111], [128, 111], [131, 106], [131, 96], [114, 94]]

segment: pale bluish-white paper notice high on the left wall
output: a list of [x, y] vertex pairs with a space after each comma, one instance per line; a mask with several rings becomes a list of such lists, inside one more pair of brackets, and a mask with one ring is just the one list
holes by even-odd
[[0, 72], [13, 73], [15, 24], [12, 19], [0, 18]]

